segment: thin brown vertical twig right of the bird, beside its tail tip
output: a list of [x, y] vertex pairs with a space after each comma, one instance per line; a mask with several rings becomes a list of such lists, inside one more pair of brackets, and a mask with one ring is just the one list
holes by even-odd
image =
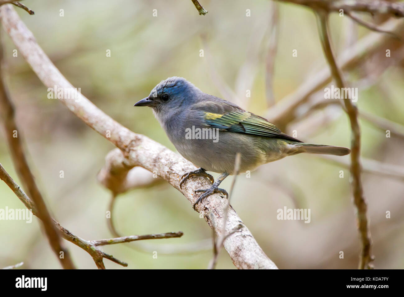
[[[339, 88], [345, 88], [345, 82], [340, 69], [332, 52], [330, 44], [330, 37], [328, 34], [328, 13], [318, 11], [316, 13], [318, 17], [318, 31], [320, 35], [320, 41], [324, 51], [324, 55], [328, 61], [331, 69], [332, 76], [337, 82]], [[362, 253], [360, 256], [359, 268], [370, 268], [369, 263], [373, 260], [371, 247], [372, 240], [370, 237], [370, 230], [368, 226], [367, 218], [367, 204], [363, 194], [362, 182], [360, 178], [361, 165], [360, 165], [360, 127], [358, 123], [358, 108], [352, 104], [350, 98], [343, 98], [345, 109], [349, 117], [351, 125], [351, 186], [353, 191], [353, 201], [357, 209], [358, 216], [358, 229], [362, 241]]]

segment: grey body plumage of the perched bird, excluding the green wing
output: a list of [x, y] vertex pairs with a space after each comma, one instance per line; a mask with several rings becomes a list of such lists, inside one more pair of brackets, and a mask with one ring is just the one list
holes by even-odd
[[[167, 93], [168, 102], [163, 102], [160, 96]], [[164, 128], [168, 138], [177, 151], [187, 160], [198, 167], [213, 172], [234, 171], [236, 153], [240, 152], [242, 161], [240, 171], [253, 170], [259, 165], [282, 159], [297, 153], [319, 153], [331, 155], [346, 155], [349, 149], [304, 144], [289, 136], [289, 139], [263, 137], [219, 130], [219, 141], [211, 139], [186, 139], [187, 128], [206, 128], [203, 111], [204, 102], [215, 105], [215, 113], [224, 114], [229, 111], [244, 111], [232, 102], [206, 94], [182, 77], [170, 77], [158, 84], [148, 96], [154, 115]], [[201, 112], [202, 111], [202, 112]]]

